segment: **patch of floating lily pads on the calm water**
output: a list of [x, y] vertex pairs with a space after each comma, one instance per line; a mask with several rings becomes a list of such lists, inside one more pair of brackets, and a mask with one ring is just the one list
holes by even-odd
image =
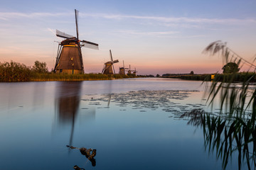
[[[193, 108], [203, 108], [205, 106], [201, 103], [184, 103], [190, 94], [196, 92], [199, 91], [129, 91], [119, 94], [95, 95], [97, 97], [90, 97], [89, 100], [82, 99], [81, 101], [89, 101], [89, 105], [108, 103], [107, 108], [114, 104], [114, 106], [120, 108], [130, 107], [132, 110], [138, 110], [139, 112], [164, 111], [178, 116], [191, 111]], [[119, 111], [126, 110], [120, 109]]]

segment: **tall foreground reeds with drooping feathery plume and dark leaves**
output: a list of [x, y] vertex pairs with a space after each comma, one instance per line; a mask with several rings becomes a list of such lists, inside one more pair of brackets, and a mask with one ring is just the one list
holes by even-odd
[[[205, 52], [212, 55], [220, 52], [225, 62], [237, 60], [238, 64], [241, 61], [249, 63], [226, 47], [226, 43], [219, 41], [208, 45]], [[252, 67], [255, 66], [251, 64]], [[236, 81], [239, 83], [234, 83]], [[255, 81], [255, 72], [215, 74], [210, 86], [204, 81], [205, 95], [212, 107], [215, 101], [220, 102], [219, 115], [201, 113], [201, 118], [191, 118], [203, 128], [205, 147], [208, 152], [215, 151], [216, 157], [222, 159], [223, 169], [234, 153], [238, 153], [239, 169], [244, 162], [247, 169], [256, 167], [256, 88], [252, 86], [252, 81]]]

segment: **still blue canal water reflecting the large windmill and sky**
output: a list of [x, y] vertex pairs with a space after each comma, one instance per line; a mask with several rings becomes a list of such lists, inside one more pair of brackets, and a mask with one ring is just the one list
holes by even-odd
[[[203, 130], [181, 118], [208, 110], [201, 83], [1, 83], [0, 169], [222, 169]], [[85, 157], [82, 147], [96, 156]], [[227, 169], [238, 169], [236, 157]]]

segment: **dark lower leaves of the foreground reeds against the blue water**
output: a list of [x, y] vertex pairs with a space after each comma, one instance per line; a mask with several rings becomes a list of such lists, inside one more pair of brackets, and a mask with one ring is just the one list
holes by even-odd
[[[255, 121], [242, 118], [226, 119], [213, 116], [203, 110], [193, 110], [181, 115], [191, 118], [189, 125], [203, 128], [205, 148], [216, 152], [226, 168], [232, 155], [238, 154], [238, 168], [247, 164], [247, 169], [256, 167], [256, 125]], [[245, 165], [246, 166], [246, 165]]]

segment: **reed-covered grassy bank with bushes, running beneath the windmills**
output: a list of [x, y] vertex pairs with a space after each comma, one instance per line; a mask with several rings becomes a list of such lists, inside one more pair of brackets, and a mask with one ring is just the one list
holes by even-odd
[[0, 82], [110, 80], [134, 77], [134, 74], [55, 74], [48, 72], [46, 63], [38, 61], [33, 67], [13, 61], [0, 63]]

